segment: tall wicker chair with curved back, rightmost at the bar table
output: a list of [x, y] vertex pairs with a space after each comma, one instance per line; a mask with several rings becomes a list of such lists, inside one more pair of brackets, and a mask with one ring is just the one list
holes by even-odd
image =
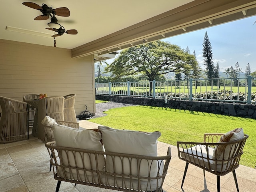
[[76, 94], [64, 96], [64, 120], [70, 122], [77, 122], [75, 112], [75, 98]]

